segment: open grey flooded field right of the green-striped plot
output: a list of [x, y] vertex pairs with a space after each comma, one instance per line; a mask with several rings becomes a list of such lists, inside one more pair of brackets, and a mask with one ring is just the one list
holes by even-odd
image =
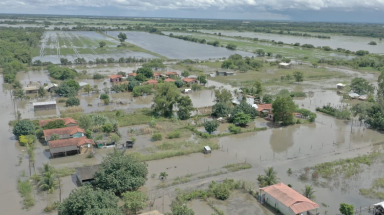
[[[117, 37], [120, 32], [110, 31], [108, 35]], [[232, 54], [252, 56], [252, 53], [228, 50], [222, 47], [213, 47], [197, 42], [185, 41], [182, 39], [150, 34], [146, 32], [125, 31], [125, 41], [135, 44], [144, 49], [161, 54], [170, 59], [209, 59], [228, 57]]]

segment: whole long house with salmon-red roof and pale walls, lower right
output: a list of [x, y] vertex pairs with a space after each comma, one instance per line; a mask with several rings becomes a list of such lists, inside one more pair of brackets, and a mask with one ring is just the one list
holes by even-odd
[[284, 215], [306, 214], [307, 211], [320, 207], [283, 183], [260, 188], [259, 193], [262, 204], [266, 203], [276, 210], [279, 209]]

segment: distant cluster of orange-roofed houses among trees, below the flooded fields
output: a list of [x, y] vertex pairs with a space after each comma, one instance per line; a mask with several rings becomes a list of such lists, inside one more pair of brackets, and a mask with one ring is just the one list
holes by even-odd
[[[127, 74], [128, 77], [130, 76], [133, 76], [133, 77], [136, 77], [137, 74], [135, 72], [133, 73], [128, 73]], [[150, 79], [150, 80], [147, 80], [145, 81], [146, 84], [153, 84], [153, 85], [156, 85], [159, 83], [159, 79], [161, 78], [165, 78], [164, 79], [164, 82], [175, 82], [176, 79], [173, 79], [173, 78], [170, 78], [170, 76], [173, 76], [173, 77], [180, 77], [180, 75], [177, 73], [177, 72], [165, 72], [165, 74], [162, 74], [160, 72], [155, 72], [153, 74], [153, 79]], [[113, 83], [120, 83], [120, 84], [128, 84], [129, 81], [125, 80], [126, 77], [122, 76], [122, 75], [110, 75], [109, 76], [109, 79], [111, 82]], [[184, 77], [183, 79], [181, 79], [182, 81], [184, 81], [185, 84], [193, 84], [193, 83], [198, 83], [199, 81], [196, 79], [196, 78], [189, 78], [189, 77]]]

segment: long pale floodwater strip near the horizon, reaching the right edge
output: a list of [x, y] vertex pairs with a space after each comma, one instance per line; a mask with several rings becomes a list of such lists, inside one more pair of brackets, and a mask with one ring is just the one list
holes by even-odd
[[[285, 44], [312, 44], [315, 47], [318, 46], [329, 46], [332, 49], [343, 48], [351, 51], [367, 50], [370, 53], [384, 53], [384, 41], [380, 41], [378, 38], [370, 37], [357, 37], [357, 36], [343, 36], [343, 35], [330, 35], [330, 39], [316, 38], [316, 37], [302, 37], [302, 36], [291, 36], [291, 35], [280, 35], [280, 34], [267, 34], [257, 32], [237, 32], [237, 31], [217, 31], [217, 30], [199, 30], [203, 33], [218, 33], [221, 32], [226, 36], [243, 36], [250, 38], [259, 38], [275, 41], [283, 41]], [[317, 35], [317, 33], [309, 33]], [[376, 41], [377, 45], [368, 45], [370, 41]]]

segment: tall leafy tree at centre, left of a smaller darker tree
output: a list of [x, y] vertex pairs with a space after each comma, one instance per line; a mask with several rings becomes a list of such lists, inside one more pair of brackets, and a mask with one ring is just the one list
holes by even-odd
[[177, 104], [180, 92], [173, 83], [159, 83], [155, 87], [152, 109], [164, 117], [173, 116], [174, 105]]

